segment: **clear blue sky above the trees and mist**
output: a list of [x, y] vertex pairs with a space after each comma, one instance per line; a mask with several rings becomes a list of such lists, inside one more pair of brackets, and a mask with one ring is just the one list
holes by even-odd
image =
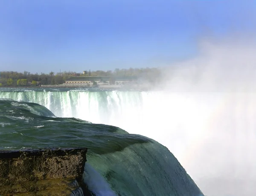
[[255, 30], [253, 0], [0, 0], [0, 71], [165, 66]]

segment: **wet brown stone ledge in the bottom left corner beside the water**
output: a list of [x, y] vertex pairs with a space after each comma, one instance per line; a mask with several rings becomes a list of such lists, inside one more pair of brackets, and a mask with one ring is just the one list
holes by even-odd
[[86, 152], [87, 148], [0, 151], [0, 195], [70, 195], [82, 182]]

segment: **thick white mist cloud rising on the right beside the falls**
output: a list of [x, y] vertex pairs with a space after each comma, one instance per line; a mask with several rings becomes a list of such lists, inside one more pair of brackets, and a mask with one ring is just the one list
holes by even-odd
[[163, 71], [163, 112], [176, 145], [163, 143], [207, 196], [254, 196], [255, 41], [203, 39], [198, 47], [198, 56]]

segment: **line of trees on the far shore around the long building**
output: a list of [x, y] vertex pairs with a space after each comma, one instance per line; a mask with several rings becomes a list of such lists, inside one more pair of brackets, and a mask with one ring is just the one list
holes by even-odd
[[32, 74], [28, 71], [23, 73], [17, 71], [1, 71], [0, 86], [37, 86], [37, 85], [58, 85], [68, 80], [70, 77], [78, 76], [137, 76], [141, 80], [150, 82], [152, 85], [161, 79], [161, 71], [158, 68], [129, 68], [114, 71], [83, 71], [76, 73], [64, 71], [61, 73], [50, 72], [49, 74]]

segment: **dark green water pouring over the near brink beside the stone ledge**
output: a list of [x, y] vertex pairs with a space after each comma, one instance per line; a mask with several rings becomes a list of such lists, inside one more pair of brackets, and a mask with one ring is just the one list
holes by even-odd
[[87, 147], [84, 181], [99, 196], [202, 195], [172, 153], [152, 139], [0, 99], [0, 148], [45, 147]]

